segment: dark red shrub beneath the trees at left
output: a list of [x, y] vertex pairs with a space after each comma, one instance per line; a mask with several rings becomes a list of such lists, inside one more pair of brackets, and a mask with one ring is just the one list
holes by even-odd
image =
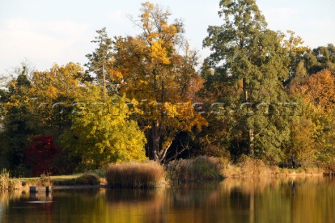
[[52, 136], [35, 136], [31, 138], [29, 148], [23, 150], [25, 164], [31, 166], [33, 176], [55, 173], [53, 166], [59, 153]]

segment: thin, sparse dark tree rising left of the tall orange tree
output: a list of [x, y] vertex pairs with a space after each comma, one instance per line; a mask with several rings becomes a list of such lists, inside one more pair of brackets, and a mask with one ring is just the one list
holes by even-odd
[[106, 81], [110, 80], [107, 74], [110, 69], [110, 59], [112, 50], [112, 39], [108, 37], [106, 28], [99, 29], [96, 31], [98, 36], [94, 37], [94, 41], [98, 48], [91, 54], [86, 55], [89, 62], [85, 64], [88, 68], [88, 72], [93, 72], [96, 75], [98, 82], [102, 82], [104, 90], [106, 87]]

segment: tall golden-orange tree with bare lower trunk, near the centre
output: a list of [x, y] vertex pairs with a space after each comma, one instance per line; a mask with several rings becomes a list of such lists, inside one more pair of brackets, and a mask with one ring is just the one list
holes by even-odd
[[188, 50], [183, 24], [178, 20], [169, 24], [170, 15], [160, 6], [142, 3], [139, 20], [133, 20], [142, 34], [120, 36], [114, 43], [112, 74], [118, 75], [120, 92], [140, 103], [144, 113], [138, 122], [151, 129], [150, 155], [156, 161], [164, 161], [180, 131], [191, 132], [205, 124], [191, 102], [193, 86], [201, 82], [195, 71], [198, 57]]

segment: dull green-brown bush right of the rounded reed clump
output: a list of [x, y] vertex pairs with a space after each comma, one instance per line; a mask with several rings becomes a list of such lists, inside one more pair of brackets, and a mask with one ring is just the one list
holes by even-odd
[[171, 161], [166, 170], [173, 183], [221, 180], [221, 161], [214, 157], [197, 157]]

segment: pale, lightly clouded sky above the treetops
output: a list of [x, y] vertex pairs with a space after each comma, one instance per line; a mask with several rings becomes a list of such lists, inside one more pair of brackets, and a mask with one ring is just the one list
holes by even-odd
[[[137, 17], [144, 0], [0, 0], [0, 76], [27, 61], [39, 71], [52, 64], [87, 63], [85, 55], [96, 30], [106, 27], [107, 34], [140, 34], [129, 20]], [[186, 39], [200, 58], [209, 55], [202, 49], [209, 25], [220, 25], [219, 0], [151, 0], [170, 8], [171, 18], [184, 20]], [[292, 30], [304, 45], [316, 48], [335, 44], [334, 0], [256, 0], [275, 31]]]

